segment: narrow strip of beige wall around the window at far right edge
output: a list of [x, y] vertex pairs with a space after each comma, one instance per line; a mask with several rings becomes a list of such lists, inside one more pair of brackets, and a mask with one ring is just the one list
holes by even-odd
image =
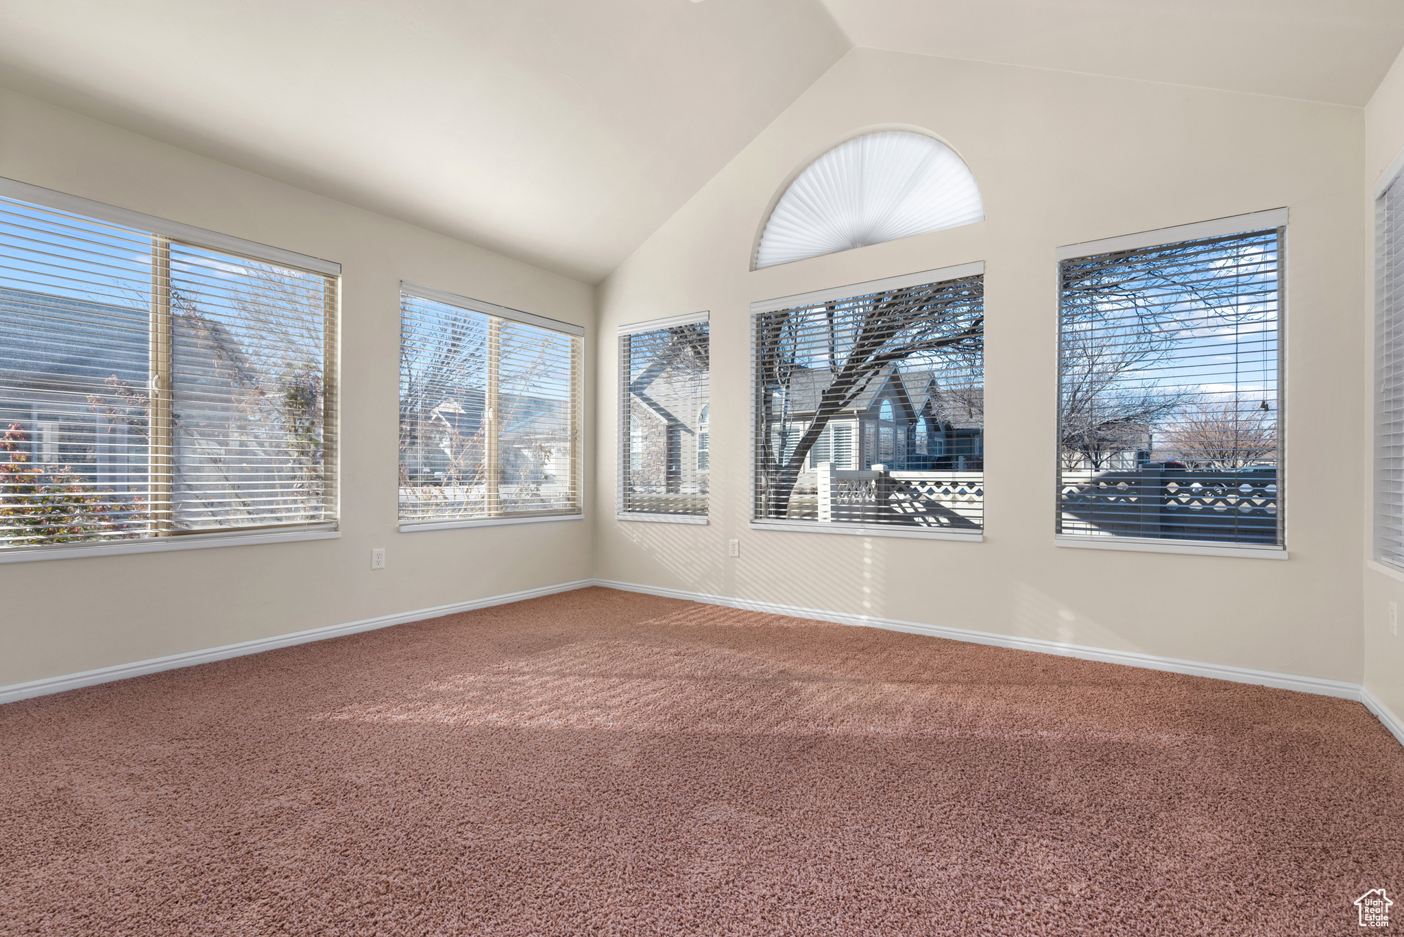
[[[1394, 67], [1380, 83], [1370, 103], [1365, 107], [1365, 167], [1362, 187], [1365, 198], [1362, 202], [1362, 223], [1372, 225], [1375, 221], [1373, 192], [1382, 173], [1389, 167], [1396, 153], [1404, 149], [1404, 56], [1394, 62]], [[1362, 277], [1370, 282], [1375, 270], [1375, 244], [1370, 239], [1362, 251]], [[1365, 341], [1360, 357], [1360, 413], [1363, 420], [1372, 417], [1373, 395], [1372, 376], [1375, 368], [1373, 322], [1375, 295], [1365, 291], [1362, 316]], [[1366, 435], [1363, 444], [1365, 485], [1370, 485], [1370, 462], [1373, 440]], [[1366, 487], [1366, 490], [1369, 490]], [[1366, 502], [1365, 517], [1365, 556], [1373, 556], [1370, 542], [1369, 502]], [[1404, 721], [1404, 638], [1391, 636], [1389, 632], [1389, 604], [1397, 603], [1404, 608], [1404, 575], [1389, 575], [1377, 568], [1365, 569], [1365, 688], [1380, 701], [1396, 719]]]

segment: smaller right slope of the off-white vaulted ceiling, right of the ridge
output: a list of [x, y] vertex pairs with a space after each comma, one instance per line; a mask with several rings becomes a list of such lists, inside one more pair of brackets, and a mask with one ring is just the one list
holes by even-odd
[[1404, 0], [823, 0], [854, 45], [1363, 107]]

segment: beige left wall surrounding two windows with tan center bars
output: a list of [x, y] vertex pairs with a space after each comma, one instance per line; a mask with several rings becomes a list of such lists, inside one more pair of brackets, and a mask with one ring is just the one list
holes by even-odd
[[0, 176], [343, 268], [341, 538], [0, 565], [0, 686], [590, 575], [588, 497], [584, 521], [417, 534], [395, 497], [399, 281], [587, 327], [590, 287], [4, 91]]

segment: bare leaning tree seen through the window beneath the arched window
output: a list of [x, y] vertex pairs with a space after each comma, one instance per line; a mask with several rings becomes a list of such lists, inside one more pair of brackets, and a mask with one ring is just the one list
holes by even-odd
[[[872, 384], [913, 358], [965, 358], [984, 347], [984, 282], [966, 277], [907, 287], [845, 303], [782, 309], [757, 319], [755, 355], [761, 409], [761, 485], [765, 517], [785, 517], [800, 469], [828, 421]], [[812, 347], [823, 339], [821, 353]], [[819, 365], [816, 368], [814, 365]], [[819, 406], [793, 448], [776, 447], [790, 382], [800, 371], [827, 374]]]

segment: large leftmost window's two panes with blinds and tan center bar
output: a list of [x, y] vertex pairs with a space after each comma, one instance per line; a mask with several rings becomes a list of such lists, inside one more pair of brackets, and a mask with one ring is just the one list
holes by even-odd
[[0, 180], [0, 556], [334, 535], [338, 277]]

